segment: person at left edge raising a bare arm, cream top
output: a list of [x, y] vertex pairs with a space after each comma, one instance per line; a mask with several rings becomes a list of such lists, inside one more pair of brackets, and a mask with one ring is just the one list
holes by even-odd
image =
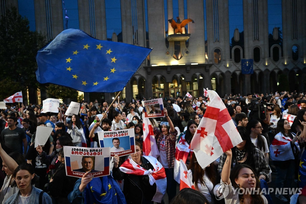
[[5, 203], [5, 201], [18, 192], [17, 187], [11, 187], [11, 184], [14, 183], [13, 172], [17, 168], [18, 165], [22, 163], [26, 163], [22, 154], [17, 152], [12, 152], [9, 155], [2, 149], [0, 144], [0, 156], [2, 158], [2, 171], [6, 173], [6, 177], [4, 179], [2, 188], [0, 190], [0, 203]]

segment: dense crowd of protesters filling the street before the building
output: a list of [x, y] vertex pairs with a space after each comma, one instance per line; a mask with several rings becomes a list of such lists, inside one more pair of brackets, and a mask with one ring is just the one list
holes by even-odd
[[[87, 192], [93, 192], [88, 185], [94, 181], [98, 186], [110, 183], [116, 195], [122, 194], [123, 199], [116, 197], [115, 201], [105, 203], [153, 203], [155, 192], [162, 190], [166, 191], [168, 199], [164, 197], [161, 203], [273, 203], [268, 194], [234, 193], [235, 189], [264, 189], [272, 183], [278, 188], [303, 188], [297, 199], [303, 203], [306, 187], [301, 184], [306, 181], [299, 185], [297, 181], [300, 181], [298, 168], [306, 139], [306, 95], [286, 91], [244, 97], [225, 95], [222, 102], [242, 142], [205, 168], [198, 164], [189, 145], [205, 117], [210, 103], [207, 97], [163, 99], [164, 117], [150, 118], [159, 150], [157, 160], [143, 155], [144, 108], [140, 100], [133, 98], [132, 102], [125, 102], [118, 98], [110, 107], [106, 101], [81, 101], [79, 113], [72, 116], [65, 115], [69, 104], [60, 104], [58, 113], [44, 113], [41, 105], [21, 104], [19, 107], [18, 103], [7, 103], [7, 109], [1, 110], [0, 121], [0, 202], [86, 203]], [[286, 114], [296, 117], [293, 121], [283, 119]], [[38, 126], [51, 127], [53, 131], [45, 145], [35, 148]], [[86, 157], [79, 171], [86, 172], [82, 178], [66, 176], [63, 146], [82, 147], [82, 138], [85, 138], [87, 147], [100, 147], [98, 132], [127, 128], [134, 128], [136, 152], [130, 157], [115, 155], [110, 176], [101, 179], [86, 176], [93, 171], [92, 161]], [[112, 151], [124, 150], [119, 140], [113, 139], [113, 144]], [[189, 152], [185, 163], [192, 172], [195, 190], [177, 192], [174, 166], [180, 148]], [[166, 174], [165, 189], [152, 185], [149, 174], [140, 176], [124, 171], [127, 163], [135, 163], [146, 172], [161, 165]], [[273, 173], [275, 179], [271, 177]], [[221, 200], [216, 199], [213, 191], [219, 183], [229, 189], [229, 195]], [[103, 187], [98, 189], [103, 195]], [[292, 195], [275, 196], [288, 202]]]

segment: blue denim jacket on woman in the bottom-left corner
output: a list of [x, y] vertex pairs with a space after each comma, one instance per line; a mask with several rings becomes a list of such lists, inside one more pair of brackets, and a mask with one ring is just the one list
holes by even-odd
[[[31, 192], [28, 204], [39, 204], [39, 193], [41, 191], [42, 190], [32, 186], [32, 192]], [[18, 191], [17, 193], [15, 193], [11, 197], [9, 197], [6, 200], [5, 204], [15, 204], [15, 203], [17, 203], [17, 199], [19, 197], [19, 192], [20, 191]], [[44, 204], [52, 204], [52, 200], [51, 200], [50, 196], [47, 193], [43, 193], [42, 203], [44, 203]]]

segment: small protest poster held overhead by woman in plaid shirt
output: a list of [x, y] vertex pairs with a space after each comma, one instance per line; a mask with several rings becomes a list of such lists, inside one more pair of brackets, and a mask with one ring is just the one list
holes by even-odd
[[144, 117], [164, 117], [164, 105], [162, 98], [142, 101], [144, 107]]

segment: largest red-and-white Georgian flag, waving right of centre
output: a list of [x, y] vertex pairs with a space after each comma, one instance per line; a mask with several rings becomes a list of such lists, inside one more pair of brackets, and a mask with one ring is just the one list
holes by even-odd
[[223, 152], [242, 142], [235, 124], [219, 95], [208, 90], [210, 103], [190, 143], [202, 168]]

